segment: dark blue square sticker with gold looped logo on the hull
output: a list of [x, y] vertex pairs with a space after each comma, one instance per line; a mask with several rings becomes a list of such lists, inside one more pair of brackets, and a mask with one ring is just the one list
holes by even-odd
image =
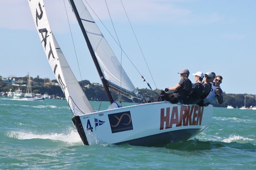
[[112, 133], [133, 130], [130, 111], [109, 114], [108, 119]]

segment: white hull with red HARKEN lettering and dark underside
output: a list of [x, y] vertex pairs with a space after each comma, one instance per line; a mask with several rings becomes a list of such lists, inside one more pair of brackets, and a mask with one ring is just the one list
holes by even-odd
[[[211, 124], [212, 112], [212, 105], [199, 107], [157, 102], [94, 112], [72, 120], [85, 145], [101, 141], [161, 146], [187, 140], [205, 130]], [[95, 119], [101, 125], [96, 126]]]

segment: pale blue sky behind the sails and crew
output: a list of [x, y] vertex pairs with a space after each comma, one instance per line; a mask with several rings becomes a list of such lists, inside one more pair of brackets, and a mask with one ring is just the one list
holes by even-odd
[[[107, 0], [118, 39], [136, 67], [122, 56], [122, 66], [135, 87], [148, 88], [140, 74], [153, 89], [175, 86], [180, 81], [177, 72], [187, 68], [192, 82], [192, 73], [210, 71], [223, 77], [225, 93], [256, 94], [255, 0], [122, 2], [147, 62], [121, 1]], [[105, 1], [87, 3], [116, 39]], [[68, 1], [45, 0], [44, 4], [51, 30], [76, 79], [101, 83]], [[93, 12], [91, 15], [120, 61], [120, 48]], [[0, 75], [24, 77], [28, 72], [32, 77], [55, 79], [28, 1], [0, 0]]]

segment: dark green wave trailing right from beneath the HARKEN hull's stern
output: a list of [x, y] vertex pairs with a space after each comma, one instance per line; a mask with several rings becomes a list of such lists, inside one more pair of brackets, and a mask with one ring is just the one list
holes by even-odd
[[246, 149], [256, 151], [256, 146], [251, 143], [237, 143], [237, 142], [220, 142], [220, 141], [200, 141], [198, 139], [180, 141], [172, 144], [165, 145], [164, 148], [176, 150], [212, 150], [220, 147], [230, 147], [235, 149]]

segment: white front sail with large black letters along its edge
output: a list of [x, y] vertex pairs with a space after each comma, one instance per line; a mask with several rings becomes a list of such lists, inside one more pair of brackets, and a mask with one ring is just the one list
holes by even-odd
[[71, 71], [46, 16], [43, 0], [28, 0], [44, 52], [62, 89], [70, 109], [75, 115], [94, 112], [79, 83]]

